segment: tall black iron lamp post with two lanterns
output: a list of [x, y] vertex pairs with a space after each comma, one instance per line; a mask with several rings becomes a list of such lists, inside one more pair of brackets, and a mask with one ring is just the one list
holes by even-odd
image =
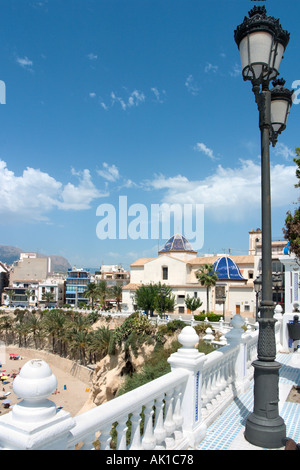
[[235, 30], [234, 38], [241, 55], [243, 78], [252, 83], [261, 131], [262, 300], [258, 319], [258, 354], [257, 360], [253, 362], [254, 410], [246, 422], [245, 438], [253, 445], [271, 449], [284, 445], [286, 427], [278, 412], [281, 365], [275, 361], [270, 143], [276, 144], [278, 134], [286, 126], [291, 106], [291, 92], [286, 93], [281, 90], [282, 93], [279, 93], [283, 82], [275, 82], [272, 92], [269, 85], [278, 76], [280, 62], [290, 35], [282, 29], [279, 20], [267, 16], [264, 6], [255, 6], [249, 12], [249, 17], [245, 17], [243, 23]]

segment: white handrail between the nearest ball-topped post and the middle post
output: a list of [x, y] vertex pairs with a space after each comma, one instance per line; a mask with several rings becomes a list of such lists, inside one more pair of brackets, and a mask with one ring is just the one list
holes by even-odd
[[124, 416], [128, 416], [135, 410], [142, 409], [143, 405], [154, 401], [157, 397], [161, 396], [162, 393], [166, 393], [185, 382], [188, 376], [189, 373], [184, 369], [169, 372], [150, 383], [127, 392], [126, 400], [124, 400], [124, 396], [121, 395], [109, 402], [103, 403], [97, 408], [75, 416], [74, 421], [76, 425], [70, 431], [71, 437], [68, 442], [68, 447], [75, 446], [86, 435], [100, 431], [101, 427], [104, 428], [109, 424], [121, 420]]

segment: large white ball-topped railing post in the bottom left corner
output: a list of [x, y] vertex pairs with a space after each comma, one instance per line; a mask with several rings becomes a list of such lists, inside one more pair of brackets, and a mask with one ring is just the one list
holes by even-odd
[[46, 362], [33, 359], [22, 367], [13, 391], [23, 400], [0, 418], [0, 449], [67, 449], [75, 421], [47, 399], [56, 387], [56, 377]]

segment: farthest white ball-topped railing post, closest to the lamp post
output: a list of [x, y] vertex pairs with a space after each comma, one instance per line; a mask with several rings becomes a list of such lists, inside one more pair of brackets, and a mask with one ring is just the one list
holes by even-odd
[[250, 385], [247, 377], [247, 335], [245, 335], [242, 326], [245, 322], [240, 315], [235, 315], [231, 320], [232, 329], [225, 335], [228, 344], [239, 345], [239, 352], [235, 363], [234, 382], [239, 391], [245, 391]]

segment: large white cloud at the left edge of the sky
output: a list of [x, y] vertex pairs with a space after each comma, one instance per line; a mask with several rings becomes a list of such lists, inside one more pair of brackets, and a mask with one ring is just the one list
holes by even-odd
[[0, 160], [0, 214], [7, 219], [48, 220], [53, 209], [89, 209], [94, 199], [107, 196], [91, 180], [89, 170], [72, 171], [79, 178], [78, 185], [60, 181], [40, 169], [26, 168], [20, 176]]

